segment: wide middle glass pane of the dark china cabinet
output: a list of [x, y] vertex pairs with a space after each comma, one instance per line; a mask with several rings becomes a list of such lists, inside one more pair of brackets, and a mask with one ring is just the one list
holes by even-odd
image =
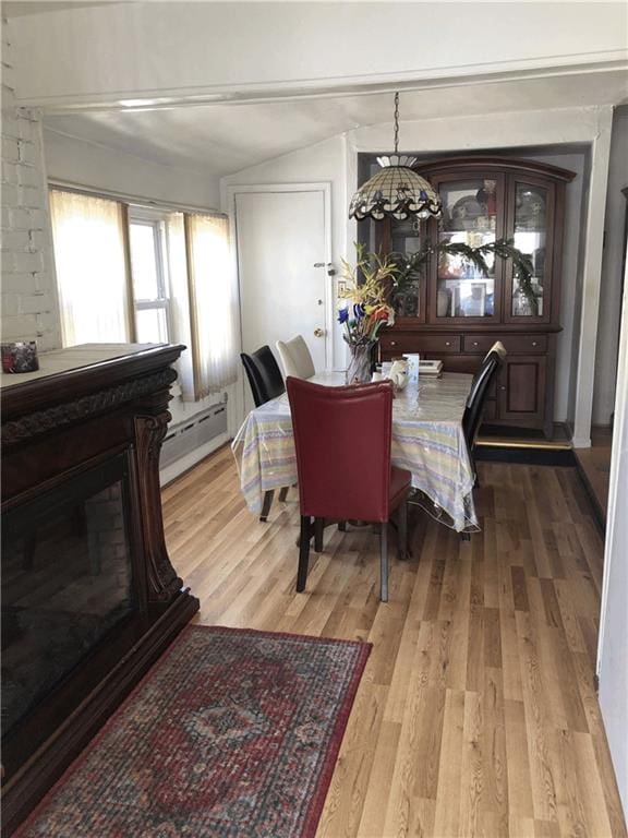
[[[461, 243], [478, 248], [502, 237], [502, 176], [444, 180], [437, 185], [443, 200], [443, 216], [437, 223], [436, 232], [439, 244]], [[433, 322], [443, 324], [469, 318], [485, 322], [499, 318], [502, 266], [495, 265], [493, 254], [487, 254], [485, 261], [488, 265], [487, 275], [461, 255], [438, 255]]]

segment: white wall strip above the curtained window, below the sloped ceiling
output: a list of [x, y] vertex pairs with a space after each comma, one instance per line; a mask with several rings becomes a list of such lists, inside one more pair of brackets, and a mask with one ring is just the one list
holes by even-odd
[[208, 210], [220, 204], [217, 178], [161, 166], [44, 127], [44, 155], [50, 180], [70, 181], [161, 203]]

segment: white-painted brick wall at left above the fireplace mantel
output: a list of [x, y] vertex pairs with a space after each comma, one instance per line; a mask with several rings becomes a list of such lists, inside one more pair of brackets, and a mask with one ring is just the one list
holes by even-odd
[[2, 21], [1, 335], [61, 346], [48, 218], [48, 189], [37, 111], [15, 105], [10, 24]]

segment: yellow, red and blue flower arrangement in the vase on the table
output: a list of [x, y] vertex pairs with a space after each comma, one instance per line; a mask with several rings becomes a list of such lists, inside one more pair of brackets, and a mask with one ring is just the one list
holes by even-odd
[[398, 267], [391, 256], [366, 251], [364, 244], [355, 244], [355, 252], [354, 267], [342, 260], [345, 290], [339, 297], [346, 302], [338, 311], [338, 322], [345, 326], [342, 337], [350, 346], [364, 346], [377, 339], [382, 326], [395, 323], [388, 298]]

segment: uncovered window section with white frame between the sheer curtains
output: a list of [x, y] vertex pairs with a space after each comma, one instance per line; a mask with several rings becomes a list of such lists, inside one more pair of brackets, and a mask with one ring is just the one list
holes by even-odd
[[129, 243], [135, 337], [141, 344], [167, 344], [172, 330], [164, 220], [150, 220], [131, 211]]

